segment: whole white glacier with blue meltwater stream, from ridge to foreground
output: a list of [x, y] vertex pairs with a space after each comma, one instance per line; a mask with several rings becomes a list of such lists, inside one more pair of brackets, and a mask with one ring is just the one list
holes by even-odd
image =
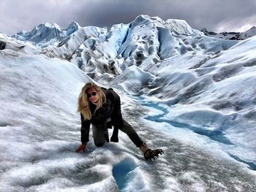
[[[256, 37], [148, 15], [109, 31], [39, 26], [0, 34], [0, 191], [255, 190]], [[144, 161], [123, 133], [73, 153], [91, 80], [116, 88], [124, 118], [165, 155]]]

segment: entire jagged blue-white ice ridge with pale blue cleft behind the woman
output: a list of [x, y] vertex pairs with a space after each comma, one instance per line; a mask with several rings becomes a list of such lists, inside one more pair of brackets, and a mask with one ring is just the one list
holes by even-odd
[[95, 80], [105, 81], [112, 80], [131, 65], [142, 65], [143, 70], [148, 70], [149, 62], [157, 64], [165, 58], [186, 53], [190, 47], [186, 47], [181, 38], [190, 35], [204, 36], [184, 20], [165, 21], [148, 15], [140, 15], [129, 24], [114, 25], [110, 31], [107, 28], [80, 28], [74, 22], [58, 37], [48, 42], [45, 39], [43, 52], [67, 59]]

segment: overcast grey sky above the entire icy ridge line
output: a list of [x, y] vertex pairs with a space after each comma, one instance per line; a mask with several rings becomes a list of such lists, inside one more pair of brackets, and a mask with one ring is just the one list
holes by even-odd
[[1, 0], [0, 31], [16, 34], [40, 23], [66, 28], [130, 23], [138, 15], [187, 20], [208, 31], [246, 31], [256, 26], [256, 0]]

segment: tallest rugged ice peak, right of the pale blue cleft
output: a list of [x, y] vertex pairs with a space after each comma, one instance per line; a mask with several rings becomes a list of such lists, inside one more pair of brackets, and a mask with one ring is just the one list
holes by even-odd
[[120, 57], [124, 58], [121, 70], [136, 65], [148, 71], [173, 56], [218, 52], [236, 43], [225, 46], [227, 43], [223, 45], [223, 42], [216, 40], [210, 45], [208, 42], [212, 41], [209, 40], [184, 20], [165, 21], [158, 17], [140, 15], [129, 23], [127, 39], [119, 49]]

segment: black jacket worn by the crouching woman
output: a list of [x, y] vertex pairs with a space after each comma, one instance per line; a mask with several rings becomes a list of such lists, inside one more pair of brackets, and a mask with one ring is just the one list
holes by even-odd
[[105, 89], [106, 101], [98, 110], [95, 104], [90, 104], [91, 120], [85, 120], [82, 113], [81, 116], [81, 142], [86, 143], [89, 141], [89, 131], [91, 124], [95, 126], [104, 126], [107, 118], [111, 118], [113, 126], [118, 127], [123, 125], [121, 115], [121, 102], [118, 94], [112, 88]]

